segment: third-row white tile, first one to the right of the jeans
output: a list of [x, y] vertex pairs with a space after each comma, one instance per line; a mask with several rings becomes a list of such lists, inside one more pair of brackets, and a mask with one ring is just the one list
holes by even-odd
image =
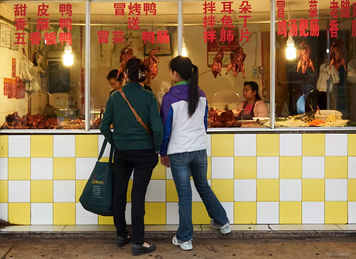
[[234, 201], [256, 201], [256, 179], [234, 180]]

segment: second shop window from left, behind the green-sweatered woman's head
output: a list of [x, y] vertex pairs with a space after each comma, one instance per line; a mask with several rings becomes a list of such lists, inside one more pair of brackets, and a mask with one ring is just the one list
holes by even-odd
[[177, 1], [91, 3], [90, 129], [99, 128], [109, 95], [125, 85], [122, 70], [132, 57], [150, 67], [144, 85], [161, 104], [171, 87], [168, 63], [178, 55], [177, 25]]

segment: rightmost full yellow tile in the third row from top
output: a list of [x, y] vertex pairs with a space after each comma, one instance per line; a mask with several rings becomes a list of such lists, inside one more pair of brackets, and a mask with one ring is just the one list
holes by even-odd
[[324, 201], [324, 179], [302, 179], [302, 201]]

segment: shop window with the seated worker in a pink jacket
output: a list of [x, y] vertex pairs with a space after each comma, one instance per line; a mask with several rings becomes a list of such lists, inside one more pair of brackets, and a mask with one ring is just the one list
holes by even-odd
[[210, 128], [266, 128], [270, 9], [268, 0], [183, 1], [182, 54], [199, 69]]

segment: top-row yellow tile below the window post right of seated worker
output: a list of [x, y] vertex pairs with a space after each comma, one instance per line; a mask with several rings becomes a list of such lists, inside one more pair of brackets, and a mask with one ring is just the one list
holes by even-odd
[[257, 157], [279, 156], [279, 134], [257, 134]]

